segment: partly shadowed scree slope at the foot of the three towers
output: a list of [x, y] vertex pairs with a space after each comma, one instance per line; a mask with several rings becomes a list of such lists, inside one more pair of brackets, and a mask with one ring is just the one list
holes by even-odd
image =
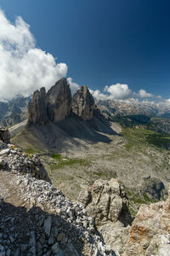
[[96, 118], [88, 121], [67, 118], [57, 124], [49, 122], [46, 125], [27, 125], [14, 136], [12, 142], [23, 149], [34, 148], [61, 153], [75, 147], [87, 148], [87, 143], [111, 143], [107, 135], [117, 135], [107, 120], [102, 122]]

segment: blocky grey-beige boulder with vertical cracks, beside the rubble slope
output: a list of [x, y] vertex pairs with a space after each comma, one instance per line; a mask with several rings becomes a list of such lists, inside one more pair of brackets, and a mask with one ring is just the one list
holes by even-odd
[[115, 178], [110, 181], [96, 180], [91, 188], [81, 191], [78, 201], [86, 207], [88, 215], [94, 218], [97, 225], [108, 220], [121, 220], [125, 225], [131, 221], [127, 195]]

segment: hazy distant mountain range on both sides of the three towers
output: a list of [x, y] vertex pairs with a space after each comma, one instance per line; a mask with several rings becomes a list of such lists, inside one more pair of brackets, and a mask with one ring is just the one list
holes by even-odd
[[[20, 123], [26, 119], [28, 102], [31, 102], [31, 96], [18, 96], [12, 100], [0, 98], [0, 125], [10, 126]], [[159, 107], [156, 107], [156, 105], [152, 106], [151, 104], [146, 104], [144, 102], [99, 100], [95, 103], [97, 104], [100, 112], [104, 114], [106, 118], [113, 118], [117, 115], [129, 116], [139, 114], [149, 117], [161, 117], [164, 119], [170, 118], [170, 111], [168, 108], [160, 109]], [[75, 108], [77, 107], [75, 106]]]

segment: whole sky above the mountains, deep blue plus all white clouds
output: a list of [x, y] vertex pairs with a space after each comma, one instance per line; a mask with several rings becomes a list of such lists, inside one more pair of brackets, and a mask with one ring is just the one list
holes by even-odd
[[[76, 0], [73, 1], [75, 5], [73, 5], [73, 3], [69, 3], [68, 1], [64, 1], [62, 3], [61, 1], [58, 1], [56, 5], [54, 2], [55, 1], [51, 1], [50, 4], [47, 4], [42, 1], [42, 7], [39, 9], [36, 24], [33, 21], [35, 21], [35, 15], [37, 12], [37, 3], [31, 3], [30, 1], [26, 1], [23, 6], [23, 4], [21, 4], [21, 1], [19, 0], [16, 1], [14, 4], [9, 4], [8, 1], [2, 1], [0, 5], [0, 7], [2, 8], [0, 11], [1, 97], [12, 98], [14, 96], [29, 96], [33, 93], [34, 90], [37, 90], [42, 86], [45, 86], [48, 90], [49, 87], [57, 80], [62, 77], [67, 77], [67, 80], [71, 86], [72, 94], [77, 91], [80, 85], [86, 84], [96, 100], [109, 99], [133, 102], [138, 104], [139, 102], [142, 102], [146, 105], [153, 106], [154, 108], [169, 108], [170, 101], [167, 89], [167, 84], [169, 83], [169, 74], [166, 73], [168, 64], [167, 44], [169, 42], [167, 29], [170, 24], [170, 20], [167, 17], [168, 1], [162, 1], [161, 3], [159, 1], [149, 1], [147, 3], [145, 1], [136, 1], [136, 3], [129, 1], [128, 4], [125, 1], [122, 1], [122, 3], [118, 3], [118, 1], [109, 1], [108, 3], [98, 1], [98, 3], [96, 3], [96, 6], [94, 5], [94, 3], [90, 4], [89, 1], [86, 1], [86, 3], [81, 3], [82, 6], [80, 6], [80, 3], [78, 3]], [[31, 4], [33, 10], [32, 14], [29, 15], [30, 13], [28, 11], [26, 12], [26, 8], [30, 9]], [[44, 44], [49, 44], [49, 46], [45, 49], [41, 49], [40, 46], [43, 46], [41, 36], [43, 34], [44, 37], [47, 33], [46, 26], [42, 30], [42, 26], [44, 25], [42, 20], [42, 12], [45, 11], [46, 7], [46, 26], [48, 26], [49, 24], [51, 24], [50, 22], [52, 22], [52, 20], [49, 19], [49, 15], [54, 14], [53, 7], [56, 9], [57, 15], [53, 17], [54, 26], [50, 26], [52, 38], [47, 37]], [[71, 8], [70, 12], [67, 9], [68, 7]], [[97, 8], [94, 12], [95, 7]], [[131, 9], [132, 7], [133, 9]], [[101, 20], [99, 20], [99, 15], [103, 13], [102, 8], [105, 8], [105, 10], [109, 10], [111, 8], [111, 10], [107, 13], [107, 15], [103, 14], [101, 16], [103, 24], [101, 26]], [[62, 12], [59, 15], [59, 10], [63, 11], [64, 9], [65, 19], [61, 19]], [[80, 13], [83, 13], [84, 16], [82, 16], [84, 17], [84, 20], [80, 17], [79, 11]], [[74, 19], [72, 15], [73, 13], [75, 14]], [[88, 15], [89, 20], [87, 19], [85, 14]], [[139, 18], [137, 17], [137, 15], [139, 15]], [[72, 27], [70, 27], [69, 25], [71, 17]], [[125, 26], [127, 19], [129, 19], [130, 21], [127, 22], [127, 26]], [[76, 29], [75, 23], [78, 20], [80, 22], [78, 28]], [[59, 26], [59, 21], [60, 28], [58, 33], [58, 31], [56, 31], [55, 29]], [[101, 42], [99, 42], [98, 39], [96, 39], [97, 41], [94, 40], [91, 31], [92, 28], [90, 28], [90, 25], [93, 28], [95, 26], [94, 36], [96, 36], [96, 38], [98, 38], [99, 34], [101, 33], [101, 38], [98, 39], [101, 39], [101, 42], [107, 42], [107, 44], [109, 45], [109, 52], [105, 48], [106, 43], [103, 44], [104, 47], [102, 49], [102, 45], [100, 45]], [[148, 28], [146, 26], [148, 26]], [[65, 29], [65, 32], [61, 33], [62, 27], [63, 29]], [[39, 32], [37, 32], [38, 28]], [[81, 36], [83, 28], [84, 36], [87, 35], [88, 29], [90, 35], [92, 36], [91, 38], [84, 38], [86, 42], [84, 42], [84, 44], [87, 44], [87, 48], [85, 48], [85, 50], [89, 50], [87, 57], [89, 59], [89, 66], [91, 71], [89, 73], [89, 67], [84, 68], [84, 65], [87, 65], [87, 60], [86, 58], [82, 58], [82, 61], [80, 63], [77, 63], [77, 72], [79, 73], [77, 74], [77, 72], [72, 72], [72, 70], [76, 68], [75, 62], [79, 60], [77, 58], [77, 55], [75, 62], [73, 58], [69, 60], [69, 58], [71, 58], [71, 50], [73, 49], [71, 47], [74, 38], [69, 37], [67, 40], [68, 44], [66, 44], [65, 33], [69, 32], [69, 29], [71, 29], [70, 33], [77, 31], [79, 33], [79, 36]], [[125, 29], [127, 29], [127, 32], [129, 32], [128, 37], [130, 38], [125, 38], [124, 44], [127, 43], [127, 47], [121, 44], [122, 35], [123, 32], [125, 33]], [[105, 36], [107, 37], [102, 38], [102, 36], [104, 36], [104, 31]], [[36, 38], [38, 37], [37, 41], [32, 32], [35, 33]], [[111, 38], [108, 37], [109, 34]], [[159, 35], [162, 38], [160, 38]], [[139, 40], [137, 40], [138, 36]], [[151, 36], [153, 36], [152, 39]], [[56, 39], [54, 39], [54, 37]], [[157, 38], [157, 43], [156, 41], [154, 41], [154, 38]], [[111, 42], [109, 42], [109, 39], [111, 39]], [[54, 41], [52, 42], [52, 40]], [[82, 55], [82, 52], [85, 46], [84, 44], [76, 44], [76, 40], [77, 37], [75, 37], [74, 52], [76, 51], [75, 54], [79, 53], [80, 57], [84, 57], [84, 55]], [[133, 42], [131, 46], [129, 46], [129, 40]], [[120, 49], [118, 51], [119, 56], [115, 56], [116, 58], [111, 62], [108, 54], [115, 54], [118, 43], [120, 43]], [[54, 49], [54, 44], [56, 44], [57, 46], [59, 46], [60, 44], [64, 44], [65, 49], [59, 48], [59, 51], [57, 51], [57, 46]], [[141, 49], [142, 44], [144, 49]], [[50, 50], [50, 45], [52, 50]], [[95, 50], [94, 55], [91, 52], [91, 48], [94, 47], [94, 45], [98, 49], [98, 54], [100, 50], [101, 58], [99, 58], [99, 56], [96, 56]], [[137, 49], [137, 46], [139, 46], [139, 49]], [[133, 55], [127, 58], [127, 55], [130, 55], [131, 48], [134, 51]], [[63, 60], [61, 59], [62, 52], [65, 51], [68, 53], [69, 49], [70, 55], [68, 56], [68, 64], [67, 61], [66, 64], [65, 62], [57, 62], [55, 55], [59, 55], [59, 61], [65, 61], [65, 57], [63, 58]], [[48, 50], [49, 52], [52, 52], [52, 54], [44, 50]], [[126, 54], [125, 50], [127, 50]], [[155, 50], [155, 52], [153, 52], [153, 50]], [[122, 54], [125, 54], [124, 58], [120, 53], [121, 51]], [[137, 60], [137, 56], [139, 57], [139, 51], [141, 51], [141, 58]], [[153, 56], [154, 54], [155, 56]], [[105, 58], [103, 58], [104, 55]], [[136, 57], [134, 55], [136, 55]], [[144, 57], [146, 57], [146, 55], [148, 57], [148, 63], [150, 64], [150, 67], [153, 64], [155, 57], [156, 61], [160, 61], [159, 63], [155, 61], [155, 66], [152, 65], [151, 68], [148, 67], [147, 71], [144, 69]], [[93, 57], [94, 61], [92, 60]], [[118, 57], [120, 57], [121, 59], [118, 59]], [[110, 73], [105, 72], [105, 68], [108, 67], [109, 64], [107, 63], [107, 59], [108, 62], [110, 61], [110, 65], [112, 65], [111, 68], [108, 70], [108, 72], [110, 71]], [[119, 62], [123, 59], [124, 63], [122, 62], [122, 66], [120, 66]], [[164, 60], [164, 63], [162, 63], [162, 60]], [[96, 68], [98, 67], [97, 62], [99, 61], [102, 63], [103, 73], [101, 73], [101, 70], [99, 70], [97, 76]], [[127, 61], [129, 61], [129, 63], [127, 63]], [[133, 66], [132, 61], [134, 62]], [[70, 63], [71, 65], [73, 65], [73, 67], [71, 67]], [[137, 66], [136, 69], [141, 68], [141, 73], [136, 73], [136, 69], [134, 68], [134, 66]], [[121, 68], [120, 72], [117, 72], [118, 67]], [[153, 69], [154, 67], [155, 69]], [[161, 69], [160, 73], [158, 73], [158, 67], [161, 67], [161, 69], [164, 68], [164, 73], [161, 72]], [[82, 69], [81, 73], [80, 68]], [[129, 71], [130, 68], [133, 68], [134, 79], [133, 77], [131, 78], [131, 80], [133, 79], [133, 83], [132, 81], [130, 82], [130, 79], [126, 79], [125, 76], [127, 71], [129, 72], [129, 75], [131, 74], [132, 76], [132, 71]], [[94, 76], [92, 75], [93, 70]], [[142, 73], [144, 72], [145, 77], [142, 77]], [[122, 75], [120, 75], [120, 73], [122, 73]], [[139, 83], [137, 81], [137, 77], [140, 80]], [[150, 82], [151, 79], [152, 82]], [[157, 81], [161, 84], [159, 85], [158, 83], [155, 83], [154, 85], [154, 79], [157, 79]], [[161, 82], [160, 79], [162, 79]], [[106, 85], [107, 83], [108, 85]], [[159, 96], [158, 94], [161, 94], [161, 96]]]

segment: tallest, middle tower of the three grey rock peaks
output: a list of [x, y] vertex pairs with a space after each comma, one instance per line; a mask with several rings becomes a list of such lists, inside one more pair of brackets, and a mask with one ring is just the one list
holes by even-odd
[[48, 119], [56, 123], [65, 119], [71, 112], [71, 90], [66, 79], [60, 79], [47, 93]]

